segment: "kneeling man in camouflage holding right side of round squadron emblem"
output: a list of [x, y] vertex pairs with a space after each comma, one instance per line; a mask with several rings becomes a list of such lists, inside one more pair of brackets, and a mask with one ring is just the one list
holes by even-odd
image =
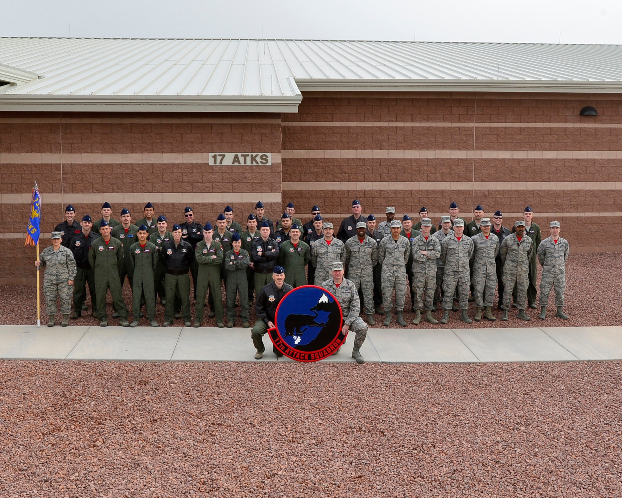
[[331, 268], [333, 275], [328, 280], [323, 281], [322, 287], [333, 294], [339, 306], [341, 306], [341, 312], [343, 312], [343, 334], [348, 334], [348, 331], [355, 333], [352, 357], [356, 360], [356, 363], [363, 363], [361, 345], [363, 345], [365, 337], [367, 337], [367, 325], [358, 316], [361, 312], [361, 303], [358, 299], [355, 284], [347, 278], [343, 278], [343, 263], [341, 261], [335, 261]]

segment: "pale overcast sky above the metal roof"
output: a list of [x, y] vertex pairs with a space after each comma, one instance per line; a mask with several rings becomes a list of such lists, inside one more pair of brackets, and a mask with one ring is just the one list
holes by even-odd
[[620, 0], [0, 0], [1, 36], [622, 44], [621, 21]]

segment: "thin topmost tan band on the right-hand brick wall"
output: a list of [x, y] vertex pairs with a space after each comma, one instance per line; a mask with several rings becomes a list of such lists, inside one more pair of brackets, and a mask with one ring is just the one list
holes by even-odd
[[[1, 122], [1, 121], [0, 121]], [[395, 128], [473, 128], [470, 123], [447, 121], [282, 121], [281, 126], [380, 126]], [[622, 123], [475, 123], [476, 128], [622, 128]]]

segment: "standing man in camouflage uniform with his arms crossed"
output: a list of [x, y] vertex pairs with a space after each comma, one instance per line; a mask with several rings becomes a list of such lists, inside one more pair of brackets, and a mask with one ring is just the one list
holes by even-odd
[[412, 241], [412, 273], [415, 291], [415, 319], [412, 321], [419, 325], [421, 321], [421, 310], [424, 309], [425, 294], [425, 321], [432, 324], [438, 322], [432, 316], [432, 305], [434, 304], [434, 291], [436, 290], [436, 260], [440, 257], [440, 242], [436, 237], [432, 237], [432, 220], [430, 218], [421, 219], [421, 233]]

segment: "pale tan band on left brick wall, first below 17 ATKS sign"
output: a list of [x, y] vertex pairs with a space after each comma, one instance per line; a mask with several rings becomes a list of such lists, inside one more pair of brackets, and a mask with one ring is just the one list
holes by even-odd
[[[134, 202], [281, 202], [281, 192], [150, 192], [103, 194], [41, 194], [42, 204], [100, 204]], [[0, 204], [30, 204], [32, 194], [0, 194]], [[119, 208], [120, 210], [120, 208]]]

